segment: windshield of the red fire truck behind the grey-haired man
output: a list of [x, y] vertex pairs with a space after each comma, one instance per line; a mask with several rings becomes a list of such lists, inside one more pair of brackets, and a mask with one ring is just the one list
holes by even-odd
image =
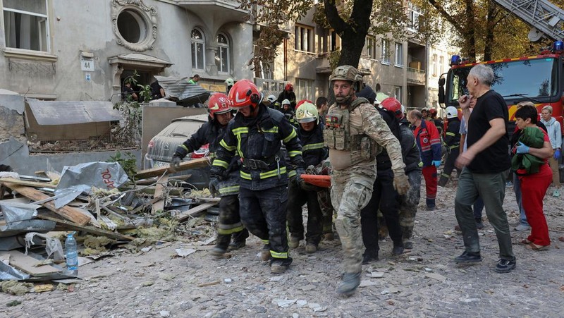
[[[489, 63], [494, 70], [491, 88], [503, 97], [551, 97], [558, 91], [556, 80], [557, 59], [533, 59]], [[466, 78], [472, 66], [453, 68], [450, 76], [448, 102], [455, 102], [462, 94], [467, 94]]]

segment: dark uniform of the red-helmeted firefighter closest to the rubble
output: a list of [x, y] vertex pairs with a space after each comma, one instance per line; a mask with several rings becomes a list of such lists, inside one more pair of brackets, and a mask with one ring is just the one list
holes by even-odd
[[[213, 156], [226, 129], [227, 126], [221, 127], [215, 120], [204, 123], [196, 133], [178, 146], [174, 156], [184, 158], [186, 154], [206, 144], [209, 144], [209, 152]], [[239, 215], [239, 166], [239, 157], [233, 156], [225, 171], [226, 178], [220, 181], [217, 189], [221, 200], [219, 201], [220, 213], [216, 243], [222, 250], [227, 249], [231, 236], [233, 236], [233, 246], [244, 245], [245, 240], [249, 237], [249, 231], [243, 227]]]

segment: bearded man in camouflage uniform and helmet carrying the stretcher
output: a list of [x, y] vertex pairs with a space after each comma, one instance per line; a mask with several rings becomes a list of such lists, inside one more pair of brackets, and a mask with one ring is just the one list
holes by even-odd
[[372, 196], [376, 179], [376, 154], [388, 151], [394, 173], [393, 185], [400, 195], [409, 188], [403, 171], [398, 139], [374, 105], [356, 97], [362, 75], [353, 66], [338, 66], [329, 77], [336, 104], [325, 116], [324, 141], [333, 166], [331, 201], [337, 211], [336, 228], [345, 253], [341, 295], [352, 295], [360, 285], [362, 271], [362, 231], [360, 210]]

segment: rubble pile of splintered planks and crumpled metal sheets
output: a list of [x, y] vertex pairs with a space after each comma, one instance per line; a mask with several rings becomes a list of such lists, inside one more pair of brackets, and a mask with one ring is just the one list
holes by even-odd
[[[195, 159], [179, 170], [208, 164]], [[60, 176], [41, 172], [0, 172], [1, 291], [53, 289], [23, 281], [76, 281], [76, 273], [66, 271], [61, 244], [69, 231], [76, 232], [79, 266], [171, 241], [213, 241], [210, 222], [217, 221], [219, 198], [188, 187], [190, 176], [169, 177], [168, 167], [133, 177], [116, 162], [65, 167]]]

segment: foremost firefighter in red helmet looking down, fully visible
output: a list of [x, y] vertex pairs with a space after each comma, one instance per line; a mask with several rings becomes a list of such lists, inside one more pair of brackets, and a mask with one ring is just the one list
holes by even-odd
[[[238, 113], [219, 143], [209, 188], [216, 188], [226, 178], [229, 163], [238, 154], [243, 164], [239, 181], [241, 221], [265, 244], [263, 257], [269, 250], [271, 272], [283, 273], [292, 262], [286, 233], [288, 173], [293, 171], [291, 182], [300, 184], [305, 169], [295, 129], [279, 111], [264, 106], [262, 98], [249, 80], [239, 80], [231, 88], [229, 101]], [[282, 143], [290, 162], [281, 152]]]

